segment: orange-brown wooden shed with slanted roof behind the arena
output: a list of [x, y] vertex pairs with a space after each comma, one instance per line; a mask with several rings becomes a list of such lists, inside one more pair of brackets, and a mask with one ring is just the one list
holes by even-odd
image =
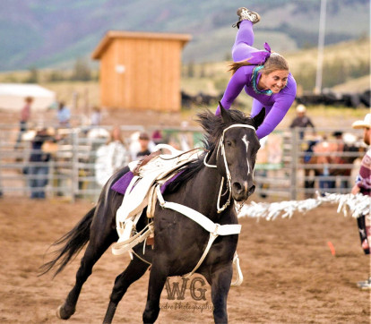
[[110, 30], [91, 57], [100, 60], [101, 106], [178, 111], [186, 34]]

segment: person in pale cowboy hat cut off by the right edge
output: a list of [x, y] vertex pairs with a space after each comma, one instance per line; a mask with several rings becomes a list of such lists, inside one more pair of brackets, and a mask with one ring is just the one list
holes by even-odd
[[[362, 158], [361, 166], [357, 176], [356, 184], [353, 186], [351, 193], [358, 192], [371, 196], [371, 114], [367, 114], [363, 121], [357, 121], [352, 124], [353, 128], [361, 128], [364, 130], [363, 141], [368, 145], [368, 150]], [[360, 215], [357, 218], [359, 238], [361, 246], [365, 254], [370, 255], [371, 248], [371, 211], [366, 215]], [[358, 286], [364, 290], [371, 289], [371, 275], [366, 281], [358, 282]]]

